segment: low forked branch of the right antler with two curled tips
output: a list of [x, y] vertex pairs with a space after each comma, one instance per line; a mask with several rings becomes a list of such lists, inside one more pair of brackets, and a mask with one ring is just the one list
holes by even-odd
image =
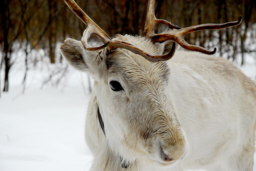
[[239, 17], [238, 21], [228, 22], [224, 24], [202, 24], [197, 26], [186, 27], [180, 30], [169, 32], [169, 33], [155, 34], [152, 37], [152, 41], [163, 43], [164, 41], [167, 41], [167, 40], [173, 40], [173, 41], [176, 41], [182, 48], [185, 48], [187, 50], [192, 50], [192, 51], [197, 51], [197, 52], [202, 52], [204, 54], [212, 55], [216, 52], [216, 48], [214, 48], [213, 51], [209, 51], [200, 46], [190, 45], [184, 40], [184, 36], [188, 33], [196, 32], [200, 30], [223, 29], [231, 26], [237, 26], [241, 22], [242, 22], [242, 16]]

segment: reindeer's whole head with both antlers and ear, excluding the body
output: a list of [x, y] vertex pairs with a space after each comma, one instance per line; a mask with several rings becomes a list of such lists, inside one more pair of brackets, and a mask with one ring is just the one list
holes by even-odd
[[[188, 151], [188, 143], [168, 94], [170, 69], [164, 60], [174, 55], [176, 43], [188, 50], [214, 54], [216, 48], [208, 51], [189, 45], [183, 36], [193, 31], [235, 26], [242, 18], [225, 24], [180, 28], [156, 19], [155, 0], [150, 0], [144, 36], [117, 35], [111, 39], [73, 0], [65, 3], [88, 27], [81, 41], [65, 40], [61, 53], [73, 67], [95, 79], [98, 124], [109, 147], [130, 163], [143, 159], [166, 166], [181, 160]], [[157, 23], [170, 29], [155, 34]], [[87, 41], [92, 34], [104, 44], [90, 47]], [[170, 52], [164, 54], [166, 49]]]

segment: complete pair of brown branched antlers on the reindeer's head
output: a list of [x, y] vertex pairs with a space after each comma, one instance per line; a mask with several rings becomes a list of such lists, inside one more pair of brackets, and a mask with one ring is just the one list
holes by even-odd
[[[64, 1], [68, 5], [68, 7], [87, 25], [87, 28], [85, 29], [82, 40], [81, 40], [84, 48], [87, 51], [98, 51], [107, 46], [111, 49], [124, 48], [133, 53], [139, 54], [140, 56], [143, 56], [145, 59], [147, 59], [150, 62], [168, 60], [174, 55], [174, 52], [175, 52], [174, 42], [172, 45], [172, 49], [169, 53], [165, 55], [151, 55], [144, 49], [134, 46], [130, 43], [127, 43], [124, 41], [112, 41], [112, 39], [108, 36], [108, 34], [106, 34], [97, 24], [95, 24], [92, 21], [92, 19], [90, 19], [90, 17], [88, 17], [84, 13], [84, 11], [75, 3], [74, 0], [64, 0]], [[202, 52], [208, 55], [214, 54], [216, 52], [216, 48], [214, 48], [213, 51], [209, 51], [200, 46], [190, 45], [186, 41], [184, 41], [184, 38], [183, 38], [184, 35], [191, 32], [196, 32], [199, 30], [222, 29], [230, 26], [236, 26], [236, 25], [239, 25], [242, 21], [242, 16], [240, 16], [239, 20], [235, 22], [229, 22], [225, 24], [202, 24], [198, 26], [180, 28], [178, 26], [172, 25], [170, 22], [166, 20], [156, 19], [155, 12], [154, 12], [155, 3], [156, 3], [156, 0], [149, 0], [148, 2], [148, 13], [147, 13], [146, 24], [144, 27], [145, 37], [150, 38], [154, 43], [156, 42], [163, 43], [164, 41], [172, 40], [177, 42], [181, 47], [187, 50]], [[176, 30], [169, 33], [155, 34], [154, 26], [156, 24], [165, 24], [169, 26], [169, 28], [176, 29]], [[88, 40], [93, 34], [97, 35], [104, 44], [99, 47], [91, 47], [88, 44]]]

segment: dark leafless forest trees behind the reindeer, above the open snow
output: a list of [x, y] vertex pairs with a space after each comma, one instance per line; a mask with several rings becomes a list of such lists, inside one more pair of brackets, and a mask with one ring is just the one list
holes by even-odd
[[[148, 0], [77, 0], [77, 4], [108, 35], [142, 35], [147, 14]], [[38, 67], [44, 61], [56, 65], [59, 70], [49, 70], [52, 85], [58, 85], [68, 72], [62, 63], [59, 45], [65, 38], [80, 40], [86, 26], [73, 14], [63, 1], [57, 0], [3, 0], [0, 4], [0, 69], [1, 90], [9, 90], [9, 72], [13, 64], [21, 58], [17, 51], [23, 51], [25, 65], [23, 83], [26, 84], [27, 71]], [[156, 18], [171, 21], [180, 27], [205, 23], [226, 23], [243, 16], [242, 24], [223, 30], [207, 30], [190, 33], [185, 40], [212, 50], [217, 47], [217, 55], [244, 64], [244, 54], [255, 56], [256, 3], [254, 0], [159, 0], [156, 2]], [[166, 28], [157, 25], [155, 32]], [[95, 38], [95, 37], [93, 37]], [[93, 40], [92, 38], [92, 40]], [[22, 62], [22, 61], [20, 61]], [[50, 64], [51, 63], [51, 64]], [[53, 64], [54, 63], [54, 64]], [[58, 76], [57, 76], [58, 75]], [[3, 78], [4, 77], [4, 78]]]

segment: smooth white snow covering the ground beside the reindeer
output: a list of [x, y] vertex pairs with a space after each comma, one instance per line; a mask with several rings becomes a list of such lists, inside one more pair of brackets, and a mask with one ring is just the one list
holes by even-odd
[[[19, 66], [12, 68], [9, 93], [0, 98], [0, 171], [89, 170], [92, 154], [84, 141], [87, 76], [69, 68], [58, 88], [47, 84], [40, 89], [46, 71], [30, 70], [22, 94], [24, 68]], [[254, 79], [255, 59], [248, 57], [242, 71]]]

